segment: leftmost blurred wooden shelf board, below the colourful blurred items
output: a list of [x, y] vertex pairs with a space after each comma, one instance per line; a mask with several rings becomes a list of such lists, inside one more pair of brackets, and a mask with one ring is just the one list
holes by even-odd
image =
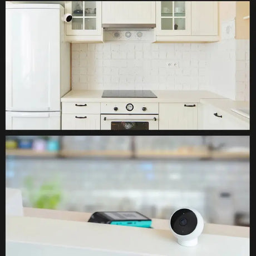
[[39, 157], [56, 157], [59, 152], [51, 151], [36, 151], [33, 149], [6, 149], [6, 155], [8, 156], [39, 156]]

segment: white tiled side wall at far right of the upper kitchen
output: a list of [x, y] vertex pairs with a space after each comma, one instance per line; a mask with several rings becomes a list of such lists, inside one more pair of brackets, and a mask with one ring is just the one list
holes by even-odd
[[208, 90], [249, 101], [249, 40], [235, 39], [235, 20], [221, 23], [221, 40], [206, 45]]

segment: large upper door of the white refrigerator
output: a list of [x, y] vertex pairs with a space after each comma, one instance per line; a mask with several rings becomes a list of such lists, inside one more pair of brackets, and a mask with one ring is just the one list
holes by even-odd
[[60, 111], [60, 9], [6, 9], [6, 110]]

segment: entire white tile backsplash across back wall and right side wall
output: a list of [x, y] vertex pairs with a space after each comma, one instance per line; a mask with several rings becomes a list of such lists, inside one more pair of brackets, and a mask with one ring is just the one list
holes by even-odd
[[[174, 61], [179, 67], [168, 67], [167, 62]], [[239, 99], [249, 99], [249, 40], [72, 43], [72, 88], [83, 86], [94, 90], [200, 89], [230, 98], [239, 92]]]

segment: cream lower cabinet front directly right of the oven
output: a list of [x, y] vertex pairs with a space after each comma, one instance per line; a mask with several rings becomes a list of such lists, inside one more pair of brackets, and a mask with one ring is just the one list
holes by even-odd
[[198, 129], [196, 103], [159, 103], [159, 130]]

